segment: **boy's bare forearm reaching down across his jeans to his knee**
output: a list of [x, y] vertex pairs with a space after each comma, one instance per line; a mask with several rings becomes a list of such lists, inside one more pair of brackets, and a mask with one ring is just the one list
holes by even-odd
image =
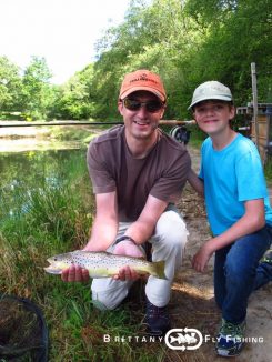
[[[214, 251], [222, 249], [239, 238], [251, 234], [265, 225], [263, 199], [245, 201], [245, 213], [230, 229], [210, 239], [193, 257], [192, 267], [203, 272]], [[239, 241], [238, 241], [239, 242]]]

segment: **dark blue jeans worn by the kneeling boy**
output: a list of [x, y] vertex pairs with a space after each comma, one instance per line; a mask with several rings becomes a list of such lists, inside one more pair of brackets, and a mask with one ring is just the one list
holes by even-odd
[[215, 252], [215, 301], [228, 322], [244, 321], [251, 292], [272, 280], [272, 265], [259, 264], [271, 240], [272, 228], [265, 225]]

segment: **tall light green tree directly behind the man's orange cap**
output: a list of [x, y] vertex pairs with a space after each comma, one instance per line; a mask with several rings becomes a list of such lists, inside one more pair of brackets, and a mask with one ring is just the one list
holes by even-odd
[[171, 107], [165, 117], [171, 118], [180, 108], [173, 84], [179, 81], [179, 87], [182, 87], [183, 70], [178, 66], [190, 48], [191, 21], [183, 17], [178, 0], [155, 0], [150, 6], [143, 3], [131, 1], [125, 22], [110, 28], [98, 42], [93, 86], [102, 100], [100, 115], [118, 117], [115, 105], [123, 74], [139, 68], [160, 73], [167, 90], [170, 89]]

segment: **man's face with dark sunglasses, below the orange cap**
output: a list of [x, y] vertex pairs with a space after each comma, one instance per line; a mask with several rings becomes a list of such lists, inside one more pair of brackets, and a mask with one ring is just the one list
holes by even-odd
[[[139, 102], [144, 104], [139, 104]], [[125, 134], [139, 140], [152, 140], [159, 120], [164, 113], [164, 105], [160, 99], [147, 91], [129, 94], [127, 99], [118, 103], [118, 109], [123, 117]]]

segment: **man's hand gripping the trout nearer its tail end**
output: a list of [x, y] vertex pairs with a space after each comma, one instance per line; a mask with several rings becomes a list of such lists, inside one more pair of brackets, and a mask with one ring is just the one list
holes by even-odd
[[[127, 255], [133, 258], [144, 258], [142, 251], [130, 240], [120, 241], [113, 251], [117, 255]], [[123, 267], [119, 270], [119, 273], [113, 276], [114, 280], [137, 280], [140, 275], [137, 271], [130, 267]]]

